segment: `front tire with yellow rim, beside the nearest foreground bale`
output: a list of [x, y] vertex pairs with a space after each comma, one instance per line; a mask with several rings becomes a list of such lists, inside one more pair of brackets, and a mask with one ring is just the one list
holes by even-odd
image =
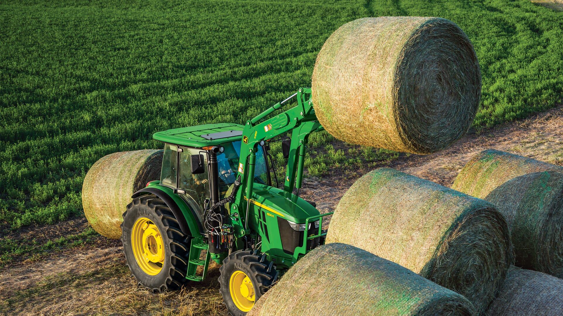
[[278, 272], [266, 255], [251, 250], [233, 252], [223, 260], [219, 271], [220, 292], [233, 316], [246, 315], [278, 279]]

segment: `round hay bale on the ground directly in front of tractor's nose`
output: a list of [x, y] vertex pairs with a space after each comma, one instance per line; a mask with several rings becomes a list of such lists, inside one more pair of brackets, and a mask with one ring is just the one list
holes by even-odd
[[338, 203], [327, 243], [360, 247], [467, 297], [485, 311], [513, 261], [506, 221], [490, 203], [376, 169]]

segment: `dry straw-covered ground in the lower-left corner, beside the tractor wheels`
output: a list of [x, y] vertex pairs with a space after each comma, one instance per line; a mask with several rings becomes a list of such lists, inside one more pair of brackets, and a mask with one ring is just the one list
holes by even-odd
[[203, 283], [153, 294], [137, 287], [121, 247], [57, 257], [0, 272], [0, 315], [228, 315], [218, 265]]

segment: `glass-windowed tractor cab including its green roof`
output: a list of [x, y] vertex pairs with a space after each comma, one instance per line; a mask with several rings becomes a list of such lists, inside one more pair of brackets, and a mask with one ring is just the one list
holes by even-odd
[[[154, 139], [164, 142], [160, 185], [173, 189], [204, 229], [204, 213], [215, 186], [222, 198], [235, 183], [243, 128], [238, 124], [205, 124], [154, 134]], [[213, 147], [217, 148], [216, 165], [209, 164]], [[209, 177], [215, 172], [216, 178]], [[254, 183], [271, 185], [269, 161], [262, 146], [256, 153]]]

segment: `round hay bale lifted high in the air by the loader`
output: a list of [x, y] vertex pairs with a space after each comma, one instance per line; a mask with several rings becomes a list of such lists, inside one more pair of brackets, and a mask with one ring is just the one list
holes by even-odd
[[439, 17], [366, 17], [338, 28], [321, 48], [312, 101], [342, 141], [430, 154], [461, 138], [481, 99], [467, 35]]

